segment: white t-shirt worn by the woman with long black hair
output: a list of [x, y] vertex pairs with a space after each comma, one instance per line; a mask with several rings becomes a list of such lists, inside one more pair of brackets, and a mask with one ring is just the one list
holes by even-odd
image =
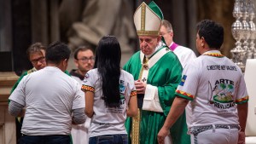
[[137, 95], [137, 93], [134, 78], [130, 73], [122, 70], [119, 80], [121, 105], [119, 108], [109, 108], [105, 106], [104, 100], [102, 100], [102, 80], [97, 69], [90, 70], [85, 74], [82, 89], [95, 93], [93, 105], [95, 114], [91, 118], [89, 137], [127, 134], [125, 130], [126, 109], [130, 97]]

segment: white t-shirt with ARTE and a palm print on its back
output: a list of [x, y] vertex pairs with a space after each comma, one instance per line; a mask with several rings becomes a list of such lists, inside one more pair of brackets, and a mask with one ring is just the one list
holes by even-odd
[[237, 105], [247, 102], [241, 69], [218, 50], [204, 53], [183, 70], [176, 94], [189, 99], [187, 124], [239, 124]]

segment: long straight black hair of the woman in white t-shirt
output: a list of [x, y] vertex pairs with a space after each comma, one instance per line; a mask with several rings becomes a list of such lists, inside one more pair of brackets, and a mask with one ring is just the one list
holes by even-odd
[[107, 107], [120, 106], [119, 77], [121, 49], [114, 36], [102, 37], [96, 49], [95, 68], [102, 78], [103, 100]]

